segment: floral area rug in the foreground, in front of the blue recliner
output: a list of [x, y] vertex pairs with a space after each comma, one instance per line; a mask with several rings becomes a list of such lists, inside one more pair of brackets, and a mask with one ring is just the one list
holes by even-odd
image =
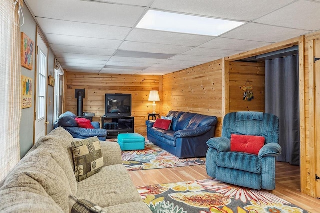
[[137, 187], [153, 213], [307, 213], [265, 190], [204, 179]]

